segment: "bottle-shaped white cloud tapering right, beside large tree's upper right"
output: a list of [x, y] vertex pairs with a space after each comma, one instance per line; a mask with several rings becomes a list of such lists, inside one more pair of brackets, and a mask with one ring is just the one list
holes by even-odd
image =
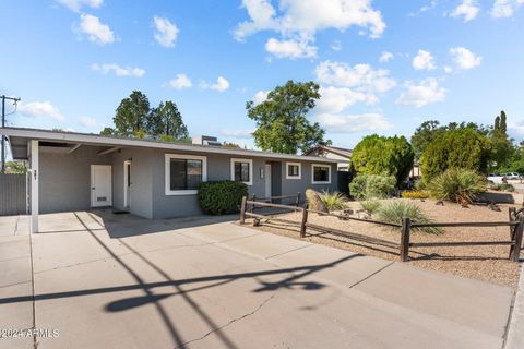
[[317, 110], [320, 112], [341, 112], [357, 103], [368, 105], [379, 101], [374, 94], [354, 91], [347, 87], [321, 86]]

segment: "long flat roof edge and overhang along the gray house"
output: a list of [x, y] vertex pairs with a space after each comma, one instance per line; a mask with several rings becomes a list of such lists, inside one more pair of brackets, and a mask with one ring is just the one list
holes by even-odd
[[9, 144], [13, 158], [27, 158], [27, 141], [38, 140], [48, 142], [61, 142], [82, 145], [98, 145], [109, 147], [146, 147], [176, 152], [200, 152], [211, 154], [227, 154], [236, 156], [267, 157], [275, 159], [308, 160], [320, 163], [337, 163], [318, 156], [301, 156], [272, 152], [248, 151], [238, 148], [226, 148], [213, 145], [198, 145], [186, 143], [170, 143], [156, 140], [136, 140], [121, 136], [108, 136], [93, 133], [78, 133], [66, 131], [50, 131], [27, 128], [0, 128], [0, 133], [9, 137]]

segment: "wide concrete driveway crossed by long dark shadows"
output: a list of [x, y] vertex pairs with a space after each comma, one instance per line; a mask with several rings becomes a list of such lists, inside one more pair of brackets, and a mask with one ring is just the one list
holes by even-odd
[[0, 328], [37, 328], [0, 348], [503, 344], [509, 288], [216, 218], [40, 217], [31, 237], [27, 217], [0, 217]]

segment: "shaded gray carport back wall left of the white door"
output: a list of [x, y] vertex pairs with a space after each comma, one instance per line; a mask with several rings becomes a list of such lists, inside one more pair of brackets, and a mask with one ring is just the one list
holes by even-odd
[[[111, 165], [99, 147], [81, 146], [72, 154], [39, 148], [39, 212], [91, 208], [91, 165]], [[60, 151], [63, 152], [63, 151]]]

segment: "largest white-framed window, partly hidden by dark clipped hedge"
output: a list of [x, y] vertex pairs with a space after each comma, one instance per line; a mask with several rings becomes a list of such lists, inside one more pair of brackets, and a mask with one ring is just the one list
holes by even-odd
[[205, 156], [166, 154], [166, 195], [196, 194], [206, 181]]

